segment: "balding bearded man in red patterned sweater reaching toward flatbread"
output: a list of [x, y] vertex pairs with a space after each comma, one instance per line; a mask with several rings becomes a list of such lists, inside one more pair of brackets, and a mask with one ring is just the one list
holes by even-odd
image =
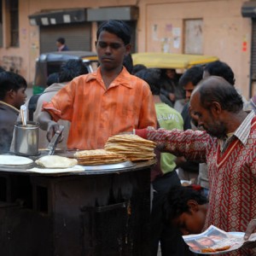
[[[196, 86], [189, 109], [204, 131], [148, 127], [136, 134], [157, 143], [161, 151], [207, 162], [210, 194], [203, 230], [213, 224], [248, 236], [249, 224], [256, 217], [256, 116], [242, 108], [235, 87], [221, 77], [210, 76]], [[255, 250], [241, 249], [232, 255], [253, 253]]]

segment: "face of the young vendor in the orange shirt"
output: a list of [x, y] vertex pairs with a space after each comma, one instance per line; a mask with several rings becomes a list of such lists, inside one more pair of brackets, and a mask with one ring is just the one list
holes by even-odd
[[130, 52], [131, 45], [113, 33], [102, 31], [96, 42], [96, 52], [102, 70], [112, 71], [123, 66], [125, 55]]

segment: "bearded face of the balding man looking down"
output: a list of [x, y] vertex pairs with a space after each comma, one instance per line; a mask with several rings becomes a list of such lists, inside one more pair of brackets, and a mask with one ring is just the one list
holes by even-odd
[[222, 122], [218, 116], [212, 114], [211, 108], [206, 109], [201, 107], [198, 92], [191, 96], [189, 112], [198, 126], [201, 126], [212, 137], [226, 137], [227, 129], [224, 122]]

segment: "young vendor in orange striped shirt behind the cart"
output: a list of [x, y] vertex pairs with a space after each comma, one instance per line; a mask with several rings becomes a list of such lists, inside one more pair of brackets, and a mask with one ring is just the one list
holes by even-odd
[[58, 119], [71, 122], [70, 149], [103, 148], [108, 137], [156, 126], [151, 90], [123, 67], [131, 50], [131, 31], [123, 21], [108, 20], [96, 34], [100, 67], [79, 76], [44, 103], [38, 120], [48, 140], [58, 131]]

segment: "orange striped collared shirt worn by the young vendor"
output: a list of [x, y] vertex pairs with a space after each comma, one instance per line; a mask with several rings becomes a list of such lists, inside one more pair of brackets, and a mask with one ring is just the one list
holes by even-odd
[[[108, 137], [125, 131], [156, 127], [151, 90], [125, 67], [106, 89], [100, 67], [63, 87], [43, 110], [71, 122], [67, 148], [103, 148]], [[64, 135], [65, 136], [65, 135]]]

